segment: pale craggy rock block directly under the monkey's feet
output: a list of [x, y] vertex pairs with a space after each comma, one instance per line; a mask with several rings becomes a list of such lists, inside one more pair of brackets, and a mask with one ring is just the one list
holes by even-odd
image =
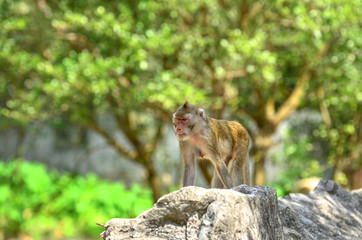
[[282, 239], [275, 190], [185, 187], [160, 198], [135, 219], [112, 219], [104, 238]]

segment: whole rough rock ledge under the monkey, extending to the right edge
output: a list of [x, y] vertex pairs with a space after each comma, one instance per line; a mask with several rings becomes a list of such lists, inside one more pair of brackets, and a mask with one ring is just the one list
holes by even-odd
[[186, 187], [134, 219], [108, 221], [101, 236], [121, 239], [362, 239], [362, 189], [321, 180], [308, 195], [277, 200], [275, 190]]

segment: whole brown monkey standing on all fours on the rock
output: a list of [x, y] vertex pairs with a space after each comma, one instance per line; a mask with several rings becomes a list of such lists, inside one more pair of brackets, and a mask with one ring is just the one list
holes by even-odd
[[184, 187], [194, 183], [195, 157], [208, 159], [214, 165], [212, 188], [250, 184], [251, 144], [248, 132], [240, 123], [209, 118], [204, 109], [188, 101], [176, 110], [172, 121], [184, 164]]

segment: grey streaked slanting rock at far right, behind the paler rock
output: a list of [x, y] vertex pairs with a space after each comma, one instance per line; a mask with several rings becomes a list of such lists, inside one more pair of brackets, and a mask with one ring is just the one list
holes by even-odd
[[321, 180], [309, 193], [279, 198], [286, 239], [362, 239], [362, 189]]

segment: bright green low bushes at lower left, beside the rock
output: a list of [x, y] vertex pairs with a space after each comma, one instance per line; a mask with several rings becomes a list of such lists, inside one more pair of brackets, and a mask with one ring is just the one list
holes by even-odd
[[95, 223], [136, 217], [152, 206], [149, 190], [126, 189], [95, 175], [60, 175], [21, 159], [0, 162], [0, 232], [34, 238], [96, 236]]

